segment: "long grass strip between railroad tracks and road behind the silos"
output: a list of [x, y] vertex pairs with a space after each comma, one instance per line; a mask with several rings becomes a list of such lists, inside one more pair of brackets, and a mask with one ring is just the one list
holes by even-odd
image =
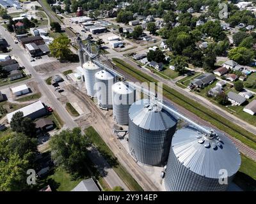
[[[120, 69], [123, 69], [129, 73], [129, 75], [141, 82], [157, 82], [154, 80], [154, 78], [149, 77], [147, 74], [141, 72], [138, 69], [132, 68], [129, 64], [120, 59], [113, 59], [113, 61], [115, 62], [116, 66], [118, 66]], [[196, 103], [196, 101], [193, 101], [192, 99], [180, 94], [167, 85], [163, 85], [163, 94], [166, 96], [166, 98], [171, 99], [178, 105], [183, 106], [190, 112], [195, 113], [201, 119], [210, 122], [212, 125], [228, 133], [228, 135], [234, 136], [234, 138], [237, 138], [249, 147], [256, 149], [256, 136], [249, 131], [246, 131], [246, 129], [237, 126], [230, 120], [221, 117], [221, 115], [218, 115], [218, 113], [212, 112], [211, 110], [205, 108], [203, 105]]]

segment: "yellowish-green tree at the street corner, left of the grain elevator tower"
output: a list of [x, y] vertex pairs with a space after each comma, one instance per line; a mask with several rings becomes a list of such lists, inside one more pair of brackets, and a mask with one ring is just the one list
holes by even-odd
[[61, 36], [52, 41], [49, 45], [49, 50], [53, 57], [63, 59], [69, 59], [70, 54], [70, 39], [67, 36]]

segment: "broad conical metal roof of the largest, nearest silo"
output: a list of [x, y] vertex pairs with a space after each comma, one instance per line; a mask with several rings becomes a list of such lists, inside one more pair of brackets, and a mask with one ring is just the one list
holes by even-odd
[[239, 150], [223, 133], [207, 138], [190, 126], [179, 129], [173, 136], [172, 149], [186, 168], [212, 179], [220, 178], [219, 171], [234, 175], [241, 165]]

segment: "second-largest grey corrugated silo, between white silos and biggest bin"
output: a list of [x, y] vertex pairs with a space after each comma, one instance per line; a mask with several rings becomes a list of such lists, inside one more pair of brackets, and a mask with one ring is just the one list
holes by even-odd
[[129, 108], [129, 150], [139, 162], [150, 166], [166, 164], [177, 120], [150, 103], [136, 101]]

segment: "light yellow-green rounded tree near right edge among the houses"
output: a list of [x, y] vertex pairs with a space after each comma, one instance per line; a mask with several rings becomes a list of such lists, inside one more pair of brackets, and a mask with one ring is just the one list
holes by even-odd
[[252, 62], [255, 55], [254, 52], [245, 47], [236, 47], [228, 52], [228, 57], [239, 64], [248, 64]]

